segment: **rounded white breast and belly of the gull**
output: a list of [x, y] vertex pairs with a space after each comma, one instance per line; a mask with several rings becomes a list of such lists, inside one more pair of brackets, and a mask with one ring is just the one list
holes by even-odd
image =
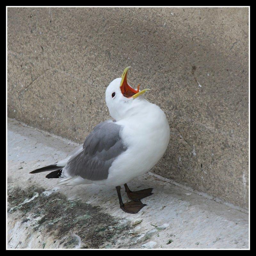
[[120, 136], [127, 150], [113, 162], [105, 184], [122, 185], [148, 172], [163, 156], [170, 139], [164, 112], [147, 101], [138, 115], [116, 122], [124, 126]]

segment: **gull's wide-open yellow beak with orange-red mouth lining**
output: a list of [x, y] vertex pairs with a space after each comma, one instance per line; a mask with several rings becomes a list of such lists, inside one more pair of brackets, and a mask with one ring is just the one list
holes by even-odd
[[120, 90], [121, 90], [122, 94], [124, 95], [124, 97], [135, 99], [138, 96], [142, 95], [143, 93], [149, 91], [150, 89], [144, 89], [144, 90], [140, 91], [139, 90], [140, 84], [138, 85], [137, 89], [133, 89], [132, 86], [130, 86], [130, 84], [128, 84], [128, 82], [127, 82], [127, 72], [128, 72], [129, 68], [131, 68], [131, 67], [127, 67], [124, 69], [121, 84], [120, 84]]

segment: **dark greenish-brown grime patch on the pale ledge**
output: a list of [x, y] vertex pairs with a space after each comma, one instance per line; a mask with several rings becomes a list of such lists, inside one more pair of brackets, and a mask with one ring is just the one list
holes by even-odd
[[[21, 211], [24, 213], [23, 219], [21, 219], [23, 223], [31, 219], [31, 214], [34, 219], [43, 216], [31, 228], [34, 228], [34, 231], [53, 236], [53, 240], [61, 240], [59, 245], [64, 248], [74, 248], [76, 239], [70, 236], [72, 233], [81, 237], [85, 243], [83, 248], [101, 248], [106, 243], [108, 248], [118, 248], [119, 246], [115, 246], [116, 240], [121, 237], [122, 239], [131, 238], [127, 245], [120, 245], [122, 248], [129, 248], [134, 244], [133, 235], [129, 233], [129, 230], [134, 227], [130, 222], [121, 224], [118, 219], [100, 212], [99, 207], [68, 200], [59, 192], [45, 196], [43, 191], [43, 188], [35, 186], [25, 190], [22, 188], [9, 189], [9, 214], [16, 210]], [[38, 193], [37, 197], [22, 204], [24, 200], [37, 195], [36, 193]], [[10, 210], [11, 208], [12, 210]], [[51, 246], [48, 245], [48, 248]]]

